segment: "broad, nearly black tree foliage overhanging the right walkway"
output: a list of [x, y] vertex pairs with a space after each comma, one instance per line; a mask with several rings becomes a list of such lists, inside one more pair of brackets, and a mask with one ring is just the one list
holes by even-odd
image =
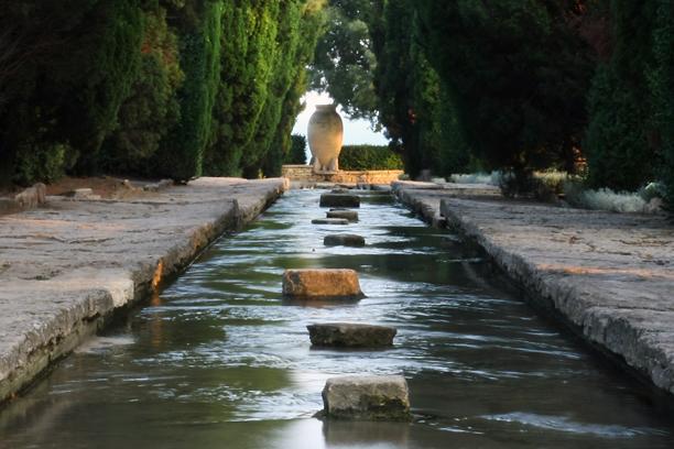
[[[492, 167], [570, 166], [585, 124], [589, 50], [558, 2], [414, 2], [464, 136]], [[442, 48], [442, 51], [437, 51]]]

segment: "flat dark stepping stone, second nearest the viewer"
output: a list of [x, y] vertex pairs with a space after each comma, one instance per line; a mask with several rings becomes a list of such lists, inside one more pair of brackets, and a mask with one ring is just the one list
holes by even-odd
[[350, 322], [309, 325], [313, 346], [337, 348], [378, 348], [393, 344], [398, 330], [389, 326], [373, 326]]

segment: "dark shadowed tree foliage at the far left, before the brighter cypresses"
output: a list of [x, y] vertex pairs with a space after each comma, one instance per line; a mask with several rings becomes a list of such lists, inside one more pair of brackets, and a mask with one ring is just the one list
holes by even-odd
[[[117, 125], [138, 74], [143, 29], [139, 2], [17, 1], [3, 7], [3, 180], [53, 177], [77, 155], [79, 171], [96, 168], [100, 145]], [[67, 157], [48, 154], [64, 147], [72, 149]]]

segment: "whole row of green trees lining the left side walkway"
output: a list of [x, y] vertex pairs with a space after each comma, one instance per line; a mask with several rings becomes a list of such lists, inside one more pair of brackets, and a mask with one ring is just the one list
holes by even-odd
[[[0, 15], [0, 176], [280, 173], [323, 0], [18, 0]], [[100, 151], [102, 146], [102, 151]]]

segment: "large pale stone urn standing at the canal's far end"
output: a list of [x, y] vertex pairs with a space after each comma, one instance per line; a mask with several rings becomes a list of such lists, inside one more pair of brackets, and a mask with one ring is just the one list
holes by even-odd
[[344, 125], [336, 105], [316, 106], [316, 112], [309, 119], [307, 138], [314, 161], [314, 173], [337, 172]]

